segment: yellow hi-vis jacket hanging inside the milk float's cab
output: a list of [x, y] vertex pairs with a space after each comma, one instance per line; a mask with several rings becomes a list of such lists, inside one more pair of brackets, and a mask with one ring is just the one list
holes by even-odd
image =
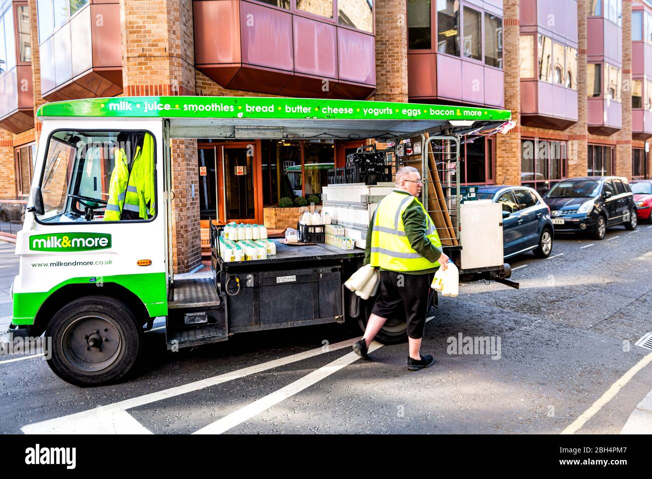
[[125, 150], [116, 150], [104, 221], [153, 218], [156, 213], [154, 175], [154, 141], [149, 133], [145, 134], [143, 147], [136, 147], [131, 166]]

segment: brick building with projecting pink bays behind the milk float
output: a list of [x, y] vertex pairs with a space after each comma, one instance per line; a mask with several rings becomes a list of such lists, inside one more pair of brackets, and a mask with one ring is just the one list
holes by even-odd
[[[264, 95], [507, 108], [467, 184], [649, 178], [647, 0], [0, 0], [0, 235], [20, 228], [45, 101]], [[175, 269], [209, 218], [262, 223], [321, 193], [360, 141], [173, 140]], [[235, 177], [235, 166], [248, 175]], [[199, 192], [199, 194], [196, 194]]]

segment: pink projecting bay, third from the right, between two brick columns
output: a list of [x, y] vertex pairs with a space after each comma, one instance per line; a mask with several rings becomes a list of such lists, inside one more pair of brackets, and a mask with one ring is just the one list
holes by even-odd
[[576, 0], [520, 3], [524, 126], [565, 130], [578, 121], [577, 19]]

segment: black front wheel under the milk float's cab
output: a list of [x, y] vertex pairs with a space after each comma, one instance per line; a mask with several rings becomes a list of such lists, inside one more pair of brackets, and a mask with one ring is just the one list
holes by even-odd
[[132, 370], [143, 349], [142, 328], [134, 314], [123, 302], [106, 296], [70, 302], [54, 315], [45, 336], [52, 338], [48, 366], [76, 386], [118, 381]]

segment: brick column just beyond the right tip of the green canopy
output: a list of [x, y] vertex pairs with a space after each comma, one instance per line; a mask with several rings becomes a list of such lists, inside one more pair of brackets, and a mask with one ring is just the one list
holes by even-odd
[[520, 9], [518, 0], [503, 2], [503, 59], [505, 66], [505, 109], [512, 111], [516, 126], [509, 133], [496, 135], [496, 183], [521, 183], [521, 80], [520, 80]]

